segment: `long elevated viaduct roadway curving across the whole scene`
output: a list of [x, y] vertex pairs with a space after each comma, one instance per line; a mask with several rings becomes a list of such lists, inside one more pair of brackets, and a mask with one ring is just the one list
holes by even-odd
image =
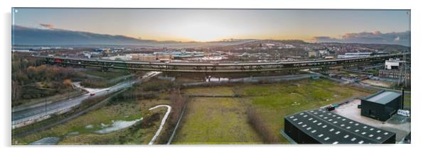
[[[406, 53], [409, 54], [410, 53]], [[280, 72], [292, 69], [358, 67], [385, 62], [403, 54], [380, 55], [333, 60], [274, 61], [274, 62], [143, 62], [123, 60], [83, 59], [74, 57], [41, 57], [47, 64], [73, 67], [100, 67], [107, 69], [132, 69], [141, 71], [178, 73], [252, 73]]]

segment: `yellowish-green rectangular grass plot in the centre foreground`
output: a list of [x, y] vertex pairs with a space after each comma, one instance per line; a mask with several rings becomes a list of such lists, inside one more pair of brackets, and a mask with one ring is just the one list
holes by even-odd
[[173, 144], [257, 144], [245, 106], [236, 98], [192, 98]]

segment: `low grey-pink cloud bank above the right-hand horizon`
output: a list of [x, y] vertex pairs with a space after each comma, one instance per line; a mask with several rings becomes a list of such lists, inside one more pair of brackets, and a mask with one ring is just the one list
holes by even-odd
[[314, 37], [316, 42], [354, 42], [354, 43], [373, 43], [373, 44], [394, 44], [410, 46], [410, 31], [380, 33], [376, 30], [371, 33], [345, 33], [340, 38], [331, 38], [327, 36]]

